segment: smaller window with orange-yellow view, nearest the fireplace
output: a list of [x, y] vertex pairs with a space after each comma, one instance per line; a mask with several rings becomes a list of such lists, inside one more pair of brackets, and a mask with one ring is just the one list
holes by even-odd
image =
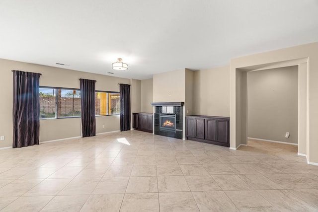
[[96, 116], [119, 114], [119, 92], [96, 91]]

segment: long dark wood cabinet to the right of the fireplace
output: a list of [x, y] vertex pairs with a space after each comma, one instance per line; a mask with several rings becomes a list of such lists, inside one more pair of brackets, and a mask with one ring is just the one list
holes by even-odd
[[187, 116], [186, 137], [193, 141], [230, 146], [229, 124], [229, 117]]

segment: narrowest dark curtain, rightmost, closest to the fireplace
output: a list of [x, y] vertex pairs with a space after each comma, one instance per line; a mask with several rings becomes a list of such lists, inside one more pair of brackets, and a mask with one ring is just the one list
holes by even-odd
[[130, 130], [130, 85], [119, 84], [120, 131]]

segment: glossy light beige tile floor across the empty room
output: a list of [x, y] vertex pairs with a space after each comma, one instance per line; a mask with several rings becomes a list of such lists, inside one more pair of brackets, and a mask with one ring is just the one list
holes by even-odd
[[109, 133], [1, 150], [0, 210], [318, 211], [318, 166], [293, 145]]

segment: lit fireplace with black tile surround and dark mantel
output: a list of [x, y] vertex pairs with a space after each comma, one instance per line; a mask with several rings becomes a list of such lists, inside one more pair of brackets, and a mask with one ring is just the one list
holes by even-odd
[[176, 139], [183, 137], [183, 102], [153, 102], [154, 134]]

